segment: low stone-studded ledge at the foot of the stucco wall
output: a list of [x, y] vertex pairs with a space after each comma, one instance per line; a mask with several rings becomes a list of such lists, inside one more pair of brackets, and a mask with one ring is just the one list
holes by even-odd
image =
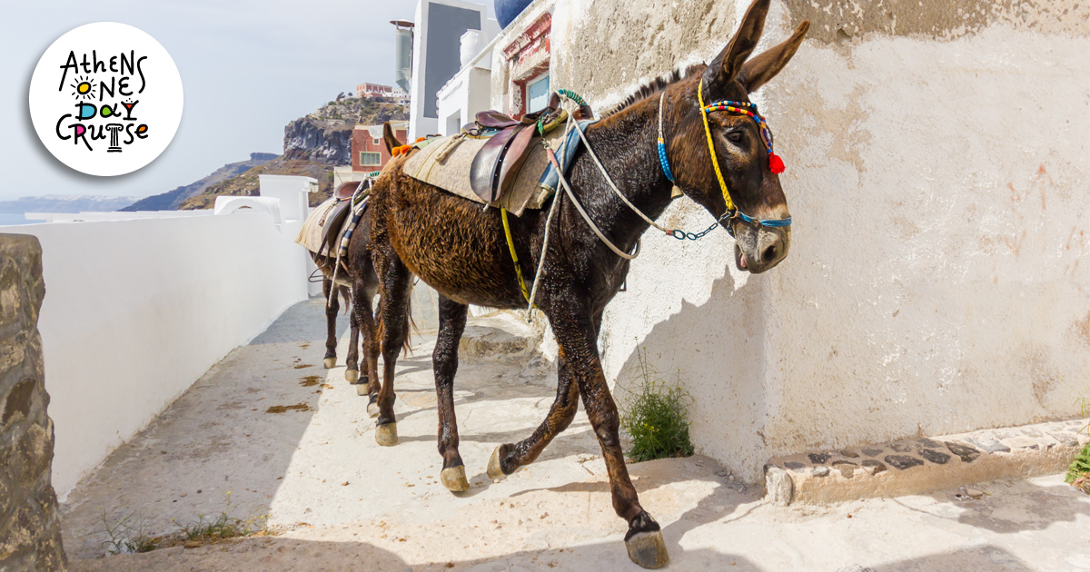
[[917, 495], [1067, 470], [1090, 419], [904, 439], [777, 457], [765, 465], [770, 500], [825, 503]]

